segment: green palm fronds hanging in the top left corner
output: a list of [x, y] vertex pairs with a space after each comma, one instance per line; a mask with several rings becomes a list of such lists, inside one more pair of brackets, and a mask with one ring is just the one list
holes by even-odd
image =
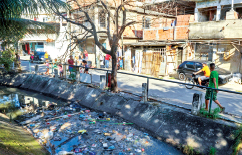
[[25, 34], [45, 30], [53, 32], [51, 24], [23, 19], [21, 16], [34, 17], [41, 12], [53, 14], [54, 9], [67, 10], [69, 6], [61, 0], [0, 0], [0, 39], [18, 41]]

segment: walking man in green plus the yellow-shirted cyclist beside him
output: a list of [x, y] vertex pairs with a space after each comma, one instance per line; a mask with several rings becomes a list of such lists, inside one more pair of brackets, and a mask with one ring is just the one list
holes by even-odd
[[[203, 80], [209, 79], [208, 87], [218, 89], [218, 72], [215, 71], [215, 64], [211, 63], [209, 68], [206, 63], [203, 63], [203, 68], [194, 74], [196, 75], [201, 72], [204, 73], [204, 76], [198, 77], [199, 85], [201, 86], [201, 83]], [[211, 93], [212, 93], [212, 90], [207, 89], [206, 95], [205, 95], [205, 106], [206, 106], [205, 110], [208, 110]], [[217, 99], [217, 93], [218, 93], [218, 90], [213, 91], [213, 98], [211, 100], [213, 100], [220, 107], [221, 111], [224, 111], [225, 108], [219, 103]]]

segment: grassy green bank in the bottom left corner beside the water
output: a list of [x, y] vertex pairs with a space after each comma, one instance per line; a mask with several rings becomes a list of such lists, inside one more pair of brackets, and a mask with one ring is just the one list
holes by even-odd
[[49, 154], [27, 131], [0, 114], [0, 154], [46, 155]]

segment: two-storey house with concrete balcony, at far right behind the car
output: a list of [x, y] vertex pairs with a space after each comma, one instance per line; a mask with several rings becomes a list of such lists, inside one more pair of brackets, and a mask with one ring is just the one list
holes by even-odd
[[189, 24], [189, 42], [195, 59], [242, 73], [241, 0], [196, 2], [195, 21]]

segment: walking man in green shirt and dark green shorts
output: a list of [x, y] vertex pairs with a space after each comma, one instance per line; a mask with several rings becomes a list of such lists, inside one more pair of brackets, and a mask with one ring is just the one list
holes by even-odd
[[[210, 64], [210, 77], [209, 77], [209, 85], [208, 87], [210, 88], [217, 88], [218, 89], [218, 72], [214, 70], [215, 69], [215, 64], [211, 63]], [[208, 110], [208, 104], [209, 104], [209, 100], [211, 97], [211, 89], [207, 89], [206, 91], [206, 95], [205, 95], [205, 104], [206, 104], [206, 110]], [[213, 90], [213, 98], [212, 100], [220, 107], [221, 111], [224, 111], [224, 107], [219, 103], [219, 101], [217, 100], [217, 93], [218, 90]]]

